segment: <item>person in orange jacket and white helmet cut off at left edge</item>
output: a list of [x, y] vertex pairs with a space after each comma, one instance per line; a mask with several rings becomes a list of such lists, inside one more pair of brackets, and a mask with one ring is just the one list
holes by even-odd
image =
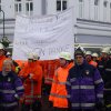
[[7, 59], [4, 54], [6, 54], [4, 47], [2, 43], [0, 43], [0, 71], [2, 71], [2, 63]]

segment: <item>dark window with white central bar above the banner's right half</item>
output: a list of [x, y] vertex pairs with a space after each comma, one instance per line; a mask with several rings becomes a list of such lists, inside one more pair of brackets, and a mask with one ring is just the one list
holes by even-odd
[[57, 0], [57, 11], [67, 9], [67, 0]]

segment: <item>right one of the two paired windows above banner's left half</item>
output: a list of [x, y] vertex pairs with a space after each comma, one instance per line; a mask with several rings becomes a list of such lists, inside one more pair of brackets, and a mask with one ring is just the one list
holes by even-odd
[[32, 16], [33, 13], [33, 1], [32, 0], [27, 0], [26, 1], [26, 14], [27, 16]]

